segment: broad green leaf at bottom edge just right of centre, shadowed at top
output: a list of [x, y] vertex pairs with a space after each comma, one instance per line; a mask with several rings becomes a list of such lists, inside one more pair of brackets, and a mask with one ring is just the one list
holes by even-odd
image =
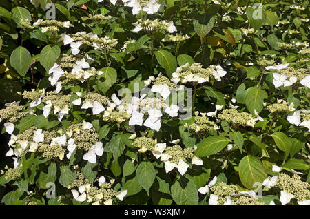
[[176, 205], [197, 205], [198, 204], [198, 190], [195, 183], [181, 176], [176, 180], [171, 187], [171, 195], [176, 202]]

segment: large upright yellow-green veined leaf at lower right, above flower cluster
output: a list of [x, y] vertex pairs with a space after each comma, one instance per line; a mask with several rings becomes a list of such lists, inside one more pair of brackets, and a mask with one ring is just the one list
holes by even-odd
[[262, 183], [267, 178], [265, 167], [254, 156], [245, 156], [240, 160], [239, 177], [242, 184], [248, 189], [254, 189], [254, 183]]

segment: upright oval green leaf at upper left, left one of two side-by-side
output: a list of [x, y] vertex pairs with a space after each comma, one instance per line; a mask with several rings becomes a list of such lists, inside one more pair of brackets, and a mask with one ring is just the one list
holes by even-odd
[[25, 76], [30, 67], [30, 59], [30, 52], [26, 48], [19, 46], [12, 52], [10, 56], [10, 63], [12, 67], [17, 70], [17, 73], [19, 73], [20, 76]]

